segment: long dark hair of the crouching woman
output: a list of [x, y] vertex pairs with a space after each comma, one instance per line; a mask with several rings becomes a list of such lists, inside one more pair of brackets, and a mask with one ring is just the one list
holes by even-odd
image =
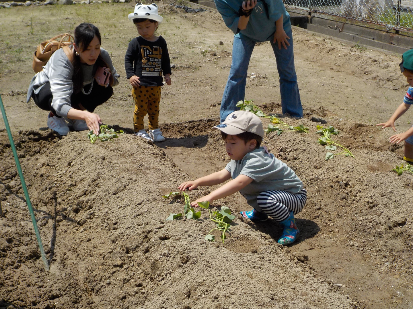
[[[95, 36], [99, 39], [99, 43], [102, 44], [102, 39], [100, 37], [99, 29], [92, 23], [81, 23], [79, 26], [75, 28], [75, 33], [74, 33], [75, 43], [76, 43], [76, 46], [80, 48], [82, 52], [88, 49], [90, 42], [92, 42]], [[75, 94], [77, 94], [83, 88], [83, 74], [81, 70], [80, 57], [75, 56], [75, 51], [73, 52], [74, 52], [74, 55], [73, 55], [74, 70], [73, 70], [72, 82], [73, 82], [73, 91]], [[107, 63], [104, 62], [101, 55], [99, 55], [99, 57], [97, 58], [96, 63], [98, 66], [108, 67]]]

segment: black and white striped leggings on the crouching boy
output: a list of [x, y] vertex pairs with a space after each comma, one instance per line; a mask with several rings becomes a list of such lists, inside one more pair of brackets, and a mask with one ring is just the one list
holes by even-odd
[[264, 213], [277, 221], [284, 221], [291, 212], [299, 213], [307, 201], [307, 190], [298, 193], [287, 191], [264, 191], [257, 197], [257, 203]]

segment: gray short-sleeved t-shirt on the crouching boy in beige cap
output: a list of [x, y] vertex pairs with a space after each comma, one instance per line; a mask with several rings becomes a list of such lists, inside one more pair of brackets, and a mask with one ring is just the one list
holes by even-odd
[[269, 154], [263, 147], [247, 153], [242, 160], [231, 160], [225, 169], [233, 179], [238, 175], [252, 178], [252, 182], [240, 190], [247, 203], [260, 209], [256, 202], [257, 196], [264, 191], [282, 190], [290, 193], [300, 192], [304, 185], [287, 164]]

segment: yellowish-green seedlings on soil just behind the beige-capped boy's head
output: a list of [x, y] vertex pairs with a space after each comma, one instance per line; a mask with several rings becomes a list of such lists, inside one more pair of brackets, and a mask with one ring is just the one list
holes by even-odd
[[248, 100], [238, 101], [236, 106], [239, 107], [240, 110], [248, 110], [249, 112], [254, 113], [258, 117], [270, 119], [271, 124], [268, 124], [268, 128], [265, 130], [266, 134], [275, 131], [277, 135], [280, 135], [283, 130], [299, 131], [303, 133], [310, 132], [310, 129], [306, 128], [302, 124], [300, 124], [299, 126], [290, 126], [289, 124], [286, 124], [285, 122], [283, 122], [277, 115], [272, 115], [272, 116], [265, 115], [265, 113], [262, 110], [260, 110], [258, 106], [252, 103], [252, 100], [251, 101], [248, 101]]

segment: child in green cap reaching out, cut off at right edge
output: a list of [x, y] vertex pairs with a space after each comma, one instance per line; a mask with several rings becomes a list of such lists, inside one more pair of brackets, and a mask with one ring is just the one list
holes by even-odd
[[[396, 132], [394, 122], [403, 115], [413, 104], [413, 49], [404, 52], [402, 61], [400, 63], [400, 70], [407, 78], [409, 89], [407, 89], [406, 96], [404, 96], [403, 103], [399, 105], [392, 117], [386, 123], [379, 123], [376, 126], [382, 126], [382, 129], [391, 127]], [[406, 132], [390, 136], [390, 143], [400, 143], [404, 140], [404, 160], [413, 164], [413, 126]]]

